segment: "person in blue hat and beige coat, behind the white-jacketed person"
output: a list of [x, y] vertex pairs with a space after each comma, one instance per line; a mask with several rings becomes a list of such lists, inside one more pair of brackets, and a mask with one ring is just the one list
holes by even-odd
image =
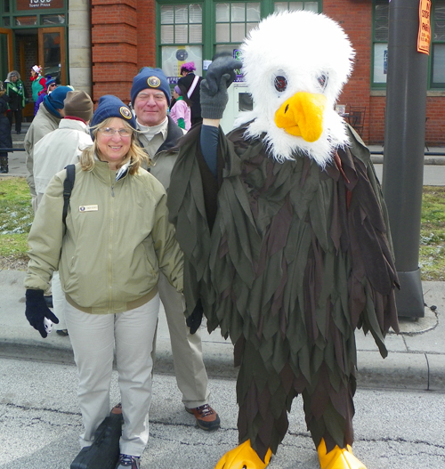
[[25, 135], [25, 150], [28, 153], [27, 156], [27, 169], [28, 177], [27, 182], [29, 185], [29, 191], [31, 192], [31, 203], [34, 211], [37, 209], [37, 196], [36, 196], [36, 185], [34, 183], [34, 145], [38, 142], [46, 133], [53, 132], [58, 126], [61, 118], [64, 116], [63, 101], [67, 97], [67, 93], [73, 91], [70, 86], [58, 86], [53, 93], [48, 94], [44, 97], [43, 105], [40, 106], [36, 117], [34, 117], [31, 125], [29, 125], [28, 132]]

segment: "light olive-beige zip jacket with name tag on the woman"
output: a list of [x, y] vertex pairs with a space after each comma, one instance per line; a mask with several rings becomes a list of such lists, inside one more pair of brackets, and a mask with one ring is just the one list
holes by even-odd
[[157, 292], [162, 271], [182, 292], [182, 251], [168, 222], [166, 191], [147, 171], [115, 181], [108, 163], [76, 165], [67, 231], [63, 181], [53, 177], [29, 233], [25, 287], [45, 290], [59, 270], [69, 303], [96, 314], [127, 311]]

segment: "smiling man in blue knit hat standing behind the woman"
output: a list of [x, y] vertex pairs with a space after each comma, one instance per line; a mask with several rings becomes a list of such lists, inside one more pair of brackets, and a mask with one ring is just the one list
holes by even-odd
[[[150, 174], [163, 184], [167, 192], [175, 190], [170, 185], [170, 176], [178, 157], [176, 145], [185, 131], [167, 116], [171, 96], [166, 74], [161, 69], [144, 67], [133, 79], [130, 96], [139, 142], [153, 163]], [[199, 332], [190, 334], [185, 323], [183, 295], [179, 295], [163, 275], [159, 277], [158, 288], [166, 313], [174, 374], [182, 393], [182, 403], [185, 410], [195, 417], [199, 428], [214, 431], [220, 427], [221, 421], [208, 404], [210, 392], [201, 336]]]

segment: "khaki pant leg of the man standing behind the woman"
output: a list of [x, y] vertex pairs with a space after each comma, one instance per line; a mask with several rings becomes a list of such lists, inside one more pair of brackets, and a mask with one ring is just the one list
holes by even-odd
[[190, 334], [183, 312], [185, 310], [183, 296], [170, 285], [162, 273], [159, 274], [158, 290], [166, 310], [174, 374], [178, 388], [182, 392], [182, 402], [187, 408], [202, 406], [208, 402], [209, 392], [199, 330], [196, 334]]

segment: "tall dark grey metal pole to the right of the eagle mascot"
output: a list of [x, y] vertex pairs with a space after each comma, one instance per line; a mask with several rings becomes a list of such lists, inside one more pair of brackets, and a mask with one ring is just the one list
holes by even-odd
[[390, 0], [383, 192], [401, 290], [399, 316], [422, 318], [418, 267], [428, 56], [417, 52], [419, 0]]

